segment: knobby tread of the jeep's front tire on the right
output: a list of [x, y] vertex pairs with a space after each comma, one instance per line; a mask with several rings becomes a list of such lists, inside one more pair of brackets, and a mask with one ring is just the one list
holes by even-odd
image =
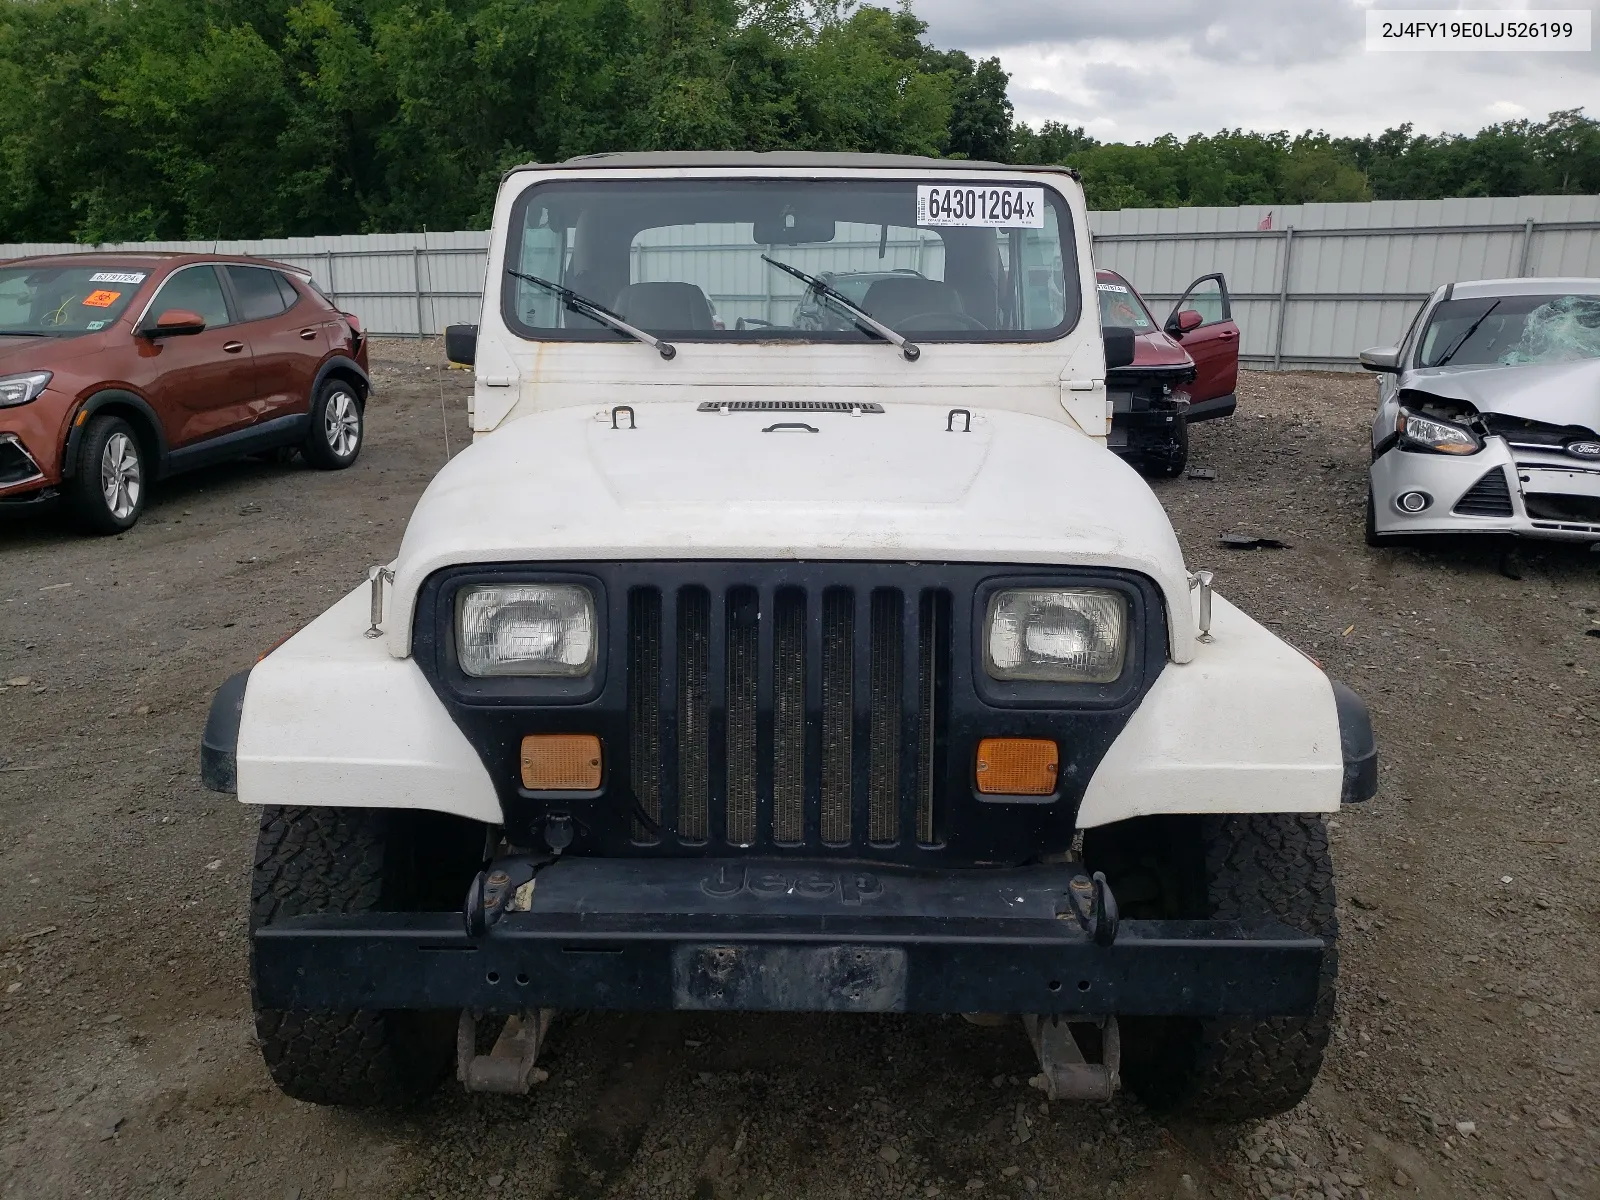
[[1245, 1122], [1288, 1112], [1310, 1091], [1333, 1029], [1339, 976], [1328, 830], [1310, 813], [1202, 819], [1210, 917], [1277, 917], [1325, 939], [1317, 1003], [1298, 1018], [1210, 1018], [1192, 1022], [1187, 1070], [1146, 1080], [1152, 1107], [1205, 1120]]

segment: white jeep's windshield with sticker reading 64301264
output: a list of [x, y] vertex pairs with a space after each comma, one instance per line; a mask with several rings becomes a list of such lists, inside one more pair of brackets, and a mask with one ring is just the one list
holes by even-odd
[[[544, 182], [514, 208], [506, 266], [674, 341], [875, 339], [763, 254], [917, 341], [1045, 341], [1078, 318], [1067, 208], [1021, 182]], [[619, 336], [512, 275], [504, 312], [523, 338]]]

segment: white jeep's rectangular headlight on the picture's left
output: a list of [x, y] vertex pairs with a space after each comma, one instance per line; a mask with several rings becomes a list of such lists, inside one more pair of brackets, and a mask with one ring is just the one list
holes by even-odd
[[578, 678], [595, 666], [595, 598], [576, 584], [467, 587], [456, 602], [469, 675]]

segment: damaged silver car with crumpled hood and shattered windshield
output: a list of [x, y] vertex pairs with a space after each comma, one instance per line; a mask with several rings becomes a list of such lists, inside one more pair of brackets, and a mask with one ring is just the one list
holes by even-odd
[[1366, 541], [1600, 542], [1600, 280], [1448, 283], [1378, 371]]

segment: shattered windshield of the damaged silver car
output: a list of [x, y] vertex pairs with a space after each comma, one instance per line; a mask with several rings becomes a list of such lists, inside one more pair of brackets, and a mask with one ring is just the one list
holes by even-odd
[[1600, 296], [1443, 301], [1427, 318], [1416, 365], [1517, 366], [1578, 358], [1600, 358]]

